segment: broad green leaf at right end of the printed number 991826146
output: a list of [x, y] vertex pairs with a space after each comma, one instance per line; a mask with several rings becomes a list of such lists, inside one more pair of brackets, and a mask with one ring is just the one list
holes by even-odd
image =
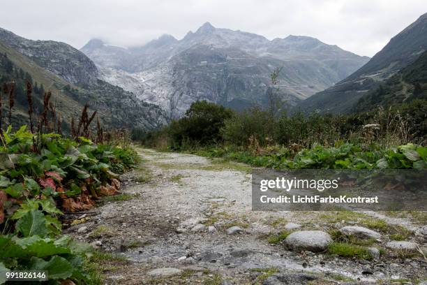
[[73, 266], [61, 256], [52, 256], [49, 261], [32, 257], [30, 270], [45, 270], [49, 279], [66, 279], [73, 275]]

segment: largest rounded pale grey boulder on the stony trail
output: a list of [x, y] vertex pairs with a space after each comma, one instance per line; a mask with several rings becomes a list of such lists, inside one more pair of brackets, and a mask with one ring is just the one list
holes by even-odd
[[332, 242], [332, 238], [324, 231], [297, 231], [287, 236], [285, 243], [294, 251], [324, 251]]

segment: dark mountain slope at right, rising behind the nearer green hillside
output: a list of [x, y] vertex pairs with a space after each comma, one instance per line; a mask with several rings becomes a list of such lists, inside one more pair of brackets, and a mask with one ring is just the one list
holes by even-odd
[[304, 112], [350, 112], [359, 99], [401, 68], [415, 61], [427, 50], [427, 13], [401, 31], [370, 61], [322, 92], [302, 101], [297, 108]]

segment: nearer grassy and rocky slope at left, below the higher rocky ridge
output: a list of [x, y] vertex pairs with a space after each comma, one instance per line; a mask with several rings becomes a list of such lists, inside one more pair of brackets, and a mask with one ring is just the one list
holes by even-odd
[[[40, 67], [35, 61], [12, 47], [0, 42], [0, 85], [15, 81], [15, 108], [13, 123], [18, 126], [28, 121], [27, 79], [32, 82], [35, 112], [42, 109], [43, 92], [52, 92], [51, 101], [63, 120], [63, 130], [70, 128], [72, 117], [78, 119], [83, 105], [89, 103], [91, 111], [96, 110], [101, 122], [111, 128], [153, 129], [165, 123], [165, 115], [155, 105], [141, 102], [120, 87], [98, 80], [93, 85], [79, 87]], [[3, 96], [3, 118], [8, 113], [7, 96]]]

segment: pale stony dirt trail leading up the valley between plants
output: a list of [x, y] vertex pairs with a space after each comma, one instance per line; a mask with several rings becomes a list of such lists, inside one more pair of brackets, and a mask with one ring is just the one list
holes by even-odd
[[[364, 261], [269, 244], [267, 236], [283, 231], [288, 222], [303, 230], [327, 231], [347, 221], [331, 221], [324, 212], [253, 212], [248, 166], [137, 150], [144, 162], [123, 175], [123, 194], [80, 216], [85, 223], [67, 230], [104, 251], [126, 256], [124, 263], [110, 261], [107, 284], [306, 284], [312, 278], [311, 284], [338, 284], [426, 278], [421, 257], [401, 258], [402, 263]], [[232, 226], [243, 231], [228, 235]], [[283, 283], [271, 283], [269, 275], [282, 276]]]

